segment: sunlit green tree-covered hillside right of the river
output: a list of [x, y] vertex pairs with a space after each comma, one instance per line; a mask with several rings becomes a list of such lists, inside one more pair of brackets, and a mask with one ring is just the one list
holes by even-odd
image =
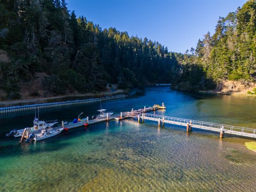
[[256, 79], [256, 3], [220, 17], [215, 33], [199, 39], [196, 49], [176, 54], [180, 71], [173, 87], [184, 90], [215, 89], [218, 82]]

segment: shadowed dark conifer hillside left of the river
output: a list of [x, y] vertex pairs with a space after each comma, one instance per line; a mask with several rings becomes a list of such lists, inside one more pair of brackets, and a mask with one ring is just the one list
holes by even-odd
[[101, 29], [65, 0], [1, 0], [0, 95], [31, 96], [170, 82], [177, 61], [158, 42]]

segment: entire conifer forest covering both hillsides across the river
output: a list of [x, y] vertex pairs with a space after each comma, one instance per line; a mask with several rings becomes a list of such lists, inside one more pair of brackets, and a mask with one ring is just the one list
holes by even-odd
[[0, 99], [99, 92], [173, 83], [215, 89], [222, 80], [255, 81], [256, 3], [220, 17], [213, 35], [184, 54], [115, 28], [101, 29], [65, 0], [0, 0]]

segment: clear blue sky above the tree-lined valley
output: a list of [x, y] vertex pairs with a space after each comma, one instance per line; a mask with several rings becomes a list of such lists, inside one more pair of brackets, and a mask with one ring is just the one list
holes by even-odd
[[115, 27], [130, 36], [147, 37], [184, 53], [207, 31], [214, 33], [219, 16], [236, 11], [246, 0], [66, 0], [69, 10], [102, 29]]

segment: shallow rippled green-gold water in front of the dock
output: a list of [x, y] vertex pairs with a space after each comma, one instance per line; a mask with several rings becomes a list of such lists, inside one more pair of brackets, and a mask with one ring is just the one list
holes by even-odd
[[[35, 145], [24, 146], [26, 155], [0, 159], [1, 191], [255, 189], [255, 153], [212, 133], [125, 120], [110, 122], [108, 130], [98, 124], [70, 132], [52, 151], [47, 141]], [[33, 147], [39, 152], [29, 153]]]

